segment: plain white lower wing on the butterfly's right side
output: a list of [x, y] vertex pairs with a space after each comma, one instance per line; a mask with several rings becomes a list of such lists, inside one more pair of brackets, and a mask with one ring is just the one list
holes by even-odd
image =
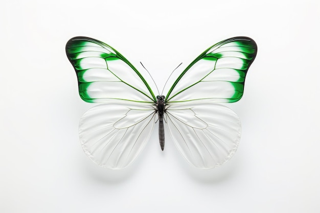
[[197, 168], [218, 167], [238, 148], [240, 119], [221, 104], [172, 105], [166, 110], [165, 120], [176, 147]]

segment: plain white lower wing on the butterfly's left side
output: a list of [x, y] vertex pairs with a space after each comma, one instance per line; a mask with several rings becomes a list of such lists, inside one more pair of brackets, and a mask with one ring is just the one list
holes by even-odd
[[101, 167], [122, 169], [140, 154], [155, 123], [151, 105], [100, 104], [86, 111], [79, 137], [86, 155]]

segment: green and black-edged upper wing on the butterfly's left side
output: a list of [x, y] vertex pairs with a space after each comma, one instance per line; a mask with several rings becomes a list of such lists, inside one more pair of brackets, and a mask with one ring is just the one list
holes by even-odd
[[66, 43], [65, 51], [76, 70], [80, 97], [84, 101], [156, 101], [138, 70], [108, 44], [93, 38], [74, 37]]

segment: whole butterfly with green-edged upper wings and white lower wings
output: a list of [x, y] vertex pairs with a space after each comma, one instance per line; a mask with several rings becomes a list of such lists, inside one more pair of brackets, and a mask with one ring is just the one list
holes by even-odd
[[110, 45], [74, 37], [65, 46], [82, 100], [101, 103], [80, 119], [85, 154], [101, 167], [123, 169], [141, 153], [155, 123], [164, 150], [164, 126], [182, 156], [197, 168], [211, 169], [236, 152], [241, 123], [220, 104], [241, 99], [256, 42], [233, 37], [214, 44], [192, 61], [164, 95], [155, 96], [146, 78]]

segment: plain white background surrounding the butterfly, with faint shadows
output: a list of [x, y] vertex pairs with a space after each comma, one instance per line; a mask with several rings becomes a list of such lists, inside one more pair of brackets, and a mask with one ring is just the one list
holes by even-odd
[[[317, 1], [5, 1], [0, 7], [1, 212], [319, 212]], [[212, 44], [258, 44], [235, 156], [198, 170], [157, 129], [129, 168], [83, 153], [78, 94], [64, 46], [89, 36], [148, 68], [162, 88]]]

